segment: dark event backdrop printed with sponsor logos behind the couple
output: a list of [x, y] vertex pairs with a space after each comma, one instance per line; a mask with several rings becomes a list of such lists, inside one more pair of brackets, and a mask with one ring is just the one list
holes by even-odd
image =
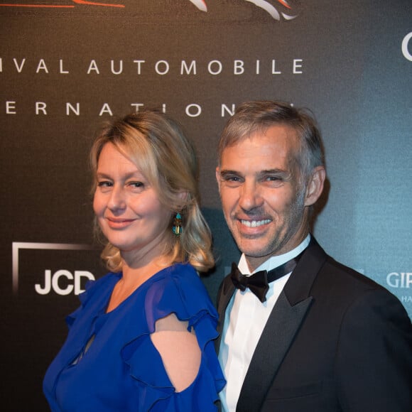
[[237, 105], [313, 111], [327, 188], [314, 233], [412, 316], [411, 0], [0, 0], [2, 407], [47, 411], [65, 315], [105, 273], [88, 152], [114, 116], [157, 107], [194, 139], [217, 266], [239, 259], [215, 183]]

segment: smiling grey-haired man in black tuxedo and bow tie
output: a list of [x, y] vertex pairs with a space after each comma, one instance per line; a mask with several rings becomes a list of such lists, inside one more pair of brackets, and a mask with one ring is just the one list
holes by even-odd
[[222, 409], [410, 412], [406, 311], [309, 233], [325, 182], [312, 117], [281, 102], [242, 104], [219, 141], [216, 177], [242, 251], [219, 291]]

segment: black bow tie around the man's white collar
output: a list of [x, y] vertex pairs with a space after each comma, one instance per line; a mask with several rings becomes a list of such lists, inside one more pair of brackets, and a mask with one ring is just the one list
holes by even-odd
[[262, 303], [264, 303], [266, 301], [266, 293], [269, 291], [269, 283], [276, 281], [276, 279], [279, 279], [287, 273], [293, 271], [302, 254], [303, 252], [290, 261], [287, 261], [286, 264], [278, 266], [269, 272], [259, 271], [251, 276], [242, 275], [237, 267], [237, 264], [232, 263], [232, 273], [230, 273], [230, 278], [232, 279], [235, 288], [238, 288], [241, 291], [245, 291], [246, 288], [249, 288], [251, 292], [253, 292]]

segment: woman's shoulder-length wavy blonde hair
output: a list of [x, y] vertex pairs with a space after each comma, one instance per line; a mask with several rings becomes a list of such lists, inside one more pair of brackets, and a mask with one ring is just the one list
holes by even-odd
[[[161, 203], [172, 212], [164, 251], [165, 256], [170, 256], [168, 262], [187, 261], [197, 271], [212, 268], [215, 265], [212, 237], [199, 205], [197, 158], [193, 144], [180, 126], [166, 114], [148, 109], [105, 126], [90, 151], [93, 192], [97, 186], [99, 156], [107, 143], [112, 143], [136, 164], [156, 190]], [[176, 213], [180, 213], [183, 220], [180, 236], [172, 232]], [[110, 271], [121, 271], [120, 251], [109, 242], [102, 251], [102, 259]]]

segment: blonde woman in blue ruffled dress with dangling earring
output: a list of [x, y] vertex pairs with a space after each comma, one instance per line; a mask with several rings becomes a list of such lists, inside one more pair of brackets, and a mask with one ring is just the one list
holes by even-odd
[[90, 282], [45, 374], [52, 411], [215, 411], [224, 386], [213, 266], [193, 147], [166, 115], [104, 129], [91, 151], [94, 213], [111, 271]]

